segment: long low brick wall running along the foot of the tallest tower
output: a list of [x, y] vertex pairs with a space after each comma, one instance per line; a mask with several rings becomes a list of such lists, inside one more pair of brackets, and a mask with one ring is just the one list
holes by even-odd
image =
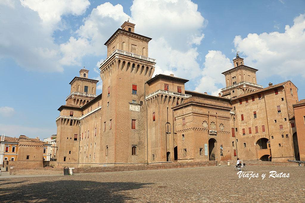
[[216, 161], [192, 162], [192, 163], [159, 163], [159, 164], [145, 164], [140, 166], [86, 167], [86, 168], [76, 168], [73, 170], [73, 173], [158, 170], [158, 169], [173, 169], [173, 168], [192, 168], [192, 167], [200, 167], [200, 166], [216, 166]]

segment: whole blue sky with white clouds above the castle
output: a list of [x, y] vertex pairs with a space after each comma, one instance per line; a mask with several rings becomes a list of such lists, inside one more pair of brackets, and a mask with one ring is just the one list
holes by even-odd
[[[2, 0], [0, 133], [56, 134], [69, 82], [86, 67], [98, 79], [106, 40], [127, 20], [151, 37], [155, 74], [189, 79], [218, 95], [236, 51], [266, 87], [291, 80], [305, 98], [305, 1]], [[102, 92], [98, 83], [97, 94]]]

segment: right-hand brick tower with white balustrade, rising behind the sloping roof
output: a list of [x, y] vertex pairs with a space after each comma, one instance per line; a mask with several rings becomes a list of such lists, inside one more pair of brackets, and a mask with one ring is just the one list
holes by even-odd
[[238, 53], [233, 59], [233, 64], [234, 68], [221, 73], [224, 74], [226, 80], [226, 87], [221, 89], [223, 97], [234, 98], [263, 88], [256, 82], [258, 70], [244, 65], [244, 59], [240, 58]]

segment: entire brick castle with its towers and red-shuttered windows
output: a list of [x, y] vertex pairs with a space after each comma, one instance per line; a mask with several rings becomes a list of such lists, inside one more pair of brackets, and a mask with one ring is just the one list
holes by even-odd
[[105, 43], [102, 94], [86, 69], [70, 82], [56, 119], [58, 167], [300, 159], [291, 81], [263, 88], [237, 54], [219, 96], [188, 91], [187, 79], [152, 78], [151, 38], [134, 29], [124, 22]]

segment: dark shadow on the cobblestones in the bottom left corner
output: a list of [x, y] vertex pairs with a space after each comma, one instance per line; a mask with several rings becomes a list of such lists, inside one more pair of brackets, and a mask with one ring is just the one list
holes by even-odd
[[133, 190], [152, 183], [95, 182], [57, 180], [41, 183], [6, 185], [0, 189], [0, 202], [123, 202], [133, 200], [121, 191]]

